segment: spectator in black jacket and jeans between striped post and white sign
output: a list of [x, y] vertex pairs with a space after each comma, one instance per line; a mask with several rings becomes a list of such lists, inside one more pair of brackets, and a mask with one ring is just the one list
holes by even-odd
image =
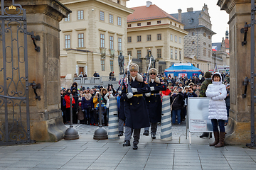
[[176, 123], [176, 117], [178, 125], [181, 125], [181, 109], [183, 108], [183, 95], [179, 94], [177, 90], [171, 94], [171, 105], [172, 105], [172, 123]]

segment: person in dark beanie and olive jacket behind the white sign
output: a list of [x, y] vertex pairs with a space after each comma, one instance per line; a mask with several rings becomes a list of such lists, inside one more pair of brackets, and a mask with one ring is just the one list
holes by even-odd
[[[208, 87], [208, 85], [209, 84], [212, 84], [212, 79], [211, 79], [211, 74], [210, 74], [210, 72], [206, 72], [205, 74], [204, 74], [204, 77], [206, 78], [204, 81], [203, 81], [203, 83], [202, 83], [202, 85], [201, 85], [201, 88], [200, 88], [200, 94], [199, 94], [199, 97], [206, 97], [206, 89], [207, 89], [207, 87]], [[212, 134], [210, 133], [209, 134], [209, 132], [203, 132], [203, 134], [200, 136], [201, 138], [203, 138], [203, 137], [209, 137], [209, 135], [210, 135], [210, 138], [212, 137]]]

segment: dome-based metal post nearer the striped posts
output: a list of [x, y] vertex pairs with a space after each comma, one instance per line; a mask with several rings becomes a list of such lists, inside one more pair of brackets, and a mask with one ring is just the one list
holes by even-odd
[[99, 128], [95, 130], [95, 135], [93, 136], [94, 140], [107, 140], [107, 130], [102, 127], [102, 103], [101, 103], [101, 95], [99, 94], [99, 119], [100, 125]]

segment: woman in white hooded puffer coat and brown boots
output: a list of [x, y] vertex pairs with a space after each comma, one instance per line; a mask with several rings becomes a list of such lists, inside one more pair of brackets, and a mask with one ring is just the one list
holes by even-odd
[[[225, 139], [225, 128], [224, 123], [227, 117], [227, 110], [225, 105], [225, 97], [227, 91], [225, 85], [222, 84], [221, 75], [218, 72], [213, 74], [213, 84], [209, 84], [206, 90], [206, 96], [210, 98], [209, 101], [209, 116], [213, 125], [213, 134], [215, 141], [210, 146], [223, 147]], [[220, 132], [218, 130], [220, 127]]]

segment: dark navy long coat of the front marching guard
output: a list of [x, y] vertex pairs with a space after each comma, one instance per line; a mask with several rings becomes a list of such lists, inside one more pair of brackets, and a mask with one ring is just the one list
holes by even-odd
[[[130, 84], [133, 88], [137, 88], [135, 94], [146, 94], [150, 92], [149, 84], [146, 84], [146, 80], [139, 74], [133, 81], [130, 79]], [[124, 97], [124, 115], [126, 118], [125, 125], [132, 129], [146, 128], [150, 126], [149, 113], [146, 108], [146, 101], [144, 96], [133, 96], [127, 98], [126, 86], [122, 86], [122, 94]]]

